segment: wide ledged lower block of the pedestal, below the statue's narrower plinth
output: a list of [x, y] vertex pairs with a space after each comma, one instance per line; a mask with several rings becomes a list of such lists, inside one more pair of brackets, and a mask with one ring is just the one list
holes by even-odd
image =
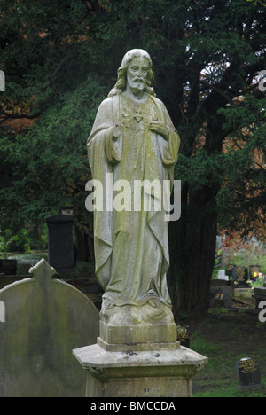
[[191, 397], [207, 358], [173, 343], [98, 344], [73, 350], [88, 371], [87, 397]]

